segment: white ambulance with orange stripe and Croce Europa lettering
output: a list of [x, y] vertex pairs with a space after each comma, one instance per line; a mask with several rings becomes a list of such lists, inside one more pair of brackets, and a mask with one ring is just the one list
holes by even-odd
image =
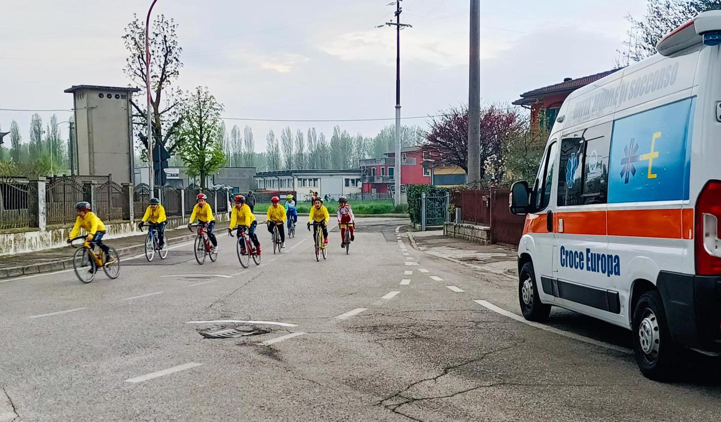
[[536, 179], [511, 189], [523, 316], [558, 306], [628, 328], [655, 380], [684, 347], [721, 352], [720, 44], [721, 11], [704, 12], [574, 91]]

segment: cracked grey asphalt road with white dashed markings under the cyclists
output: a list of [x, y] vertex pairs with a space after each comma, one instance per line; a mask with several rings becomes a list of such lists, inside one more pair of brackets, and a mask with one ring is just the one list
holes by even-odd
[[[651, 382], [625, 331], [508, 318], [511, 277], [417, 251], [399, 221], [359, 220], [350, 256], [332, 233], [321, 262], [300, 230], [249, 269], [221, 235], [203, 266], [178, 245], [115, 281], [1, 282], [0, 422], [718, 420], [719, 372]], [[239, 322], [198, 323], [218, 320]], [[255, 335], [199, 333], [233, 327]]]

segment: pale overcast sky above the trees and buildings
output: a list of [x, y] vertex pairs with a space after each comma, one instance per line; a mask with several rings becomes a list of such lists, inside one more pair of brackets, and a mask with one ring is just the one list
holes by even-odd
[[[179, 24], [185, 66], [178, 86], [208, 86], [224, 117], [366, 119], [383, 122], [245, 122], [257, 151], [289, 125], [375, 135], [392, 124], [395, 32], [390, 0], [159, 0], [154, 15]], [[69, 109], [71, 85], [126, 86], [123, 28], [150, 0], [27, 0], [2, 8], [0, 109]], [[613, 67], [644, 0], [481, 0], [481, 96], [510, 103], [523, 91]], [[425, 116], [468, 101], [468, 0], [404, 0], [402, 115]], [[56, 112], [58, 121], [70, 112]], [[52, 112], [40, 112], [45, 124]], [[27, 142], [32, 112], [17, 120]], [[404, 124], [425, 125], [424, 119]], [[66, 125], [63, 138], [67, 136]], [[7, 138], [6, 138], [7, 141]]]

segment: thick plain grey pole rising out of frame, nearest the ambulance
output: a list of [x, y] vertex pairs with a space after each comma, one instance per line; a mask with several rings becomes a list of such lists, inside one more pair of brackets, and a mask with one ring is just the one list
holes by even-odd
[[479, 189], [481, 178], [481, 17], [480, 0], [471, 0], [470, 60], [468, 78], [468, 183]]

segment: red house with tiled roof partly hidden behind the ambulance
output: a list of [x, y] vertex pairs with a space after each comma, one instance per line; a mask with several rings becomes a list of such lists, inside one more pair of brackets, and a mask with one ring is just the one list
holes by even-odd
[[559, 82], [558, 84], [524, 92], [521, 94], [521, 99], [517, 99], [513, 104], [531, 109], [531, 127], [536, 130], [549, 131], [558, 116], [558, 110], [561, 108], [563, 100], [565, 100], [569, 94], [581, 86], [591, 84], [619, 70], [621, 70], [621, 68], [583, 76], [582, 78], [565, 78], [563, 82]]

